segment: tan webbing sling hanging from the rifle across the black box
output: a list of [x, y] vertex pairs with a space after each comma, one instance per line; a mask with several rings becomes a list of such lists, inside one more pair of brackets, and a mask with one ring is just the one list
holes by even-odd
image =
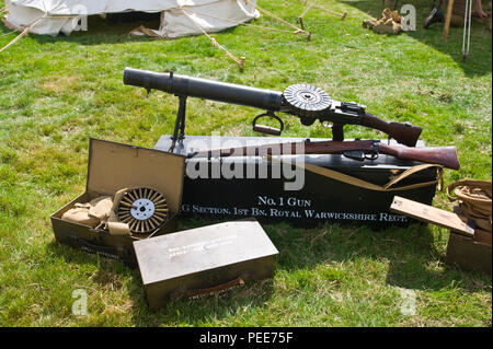
[[[266, 156], [267, 161], [271, 162], [278, 162], [278, 163], [286, 163], [285, 161], [282, 161], [279, 159], [274, 159], [271, 155]], [[376, 185], [359, 178], [355, 178], [353, 176], [333, 171], [333, 170], [329, 170], [325, 167], [321, 167], [321, 166], [317, 166], [317, 165], [312, 165], [312, 164], [298, 164], [298, 163], [293, 163], [293, 162], [287, 162], [291, 165], [296, 165], [298, 167], [305, 168], [307, 171], [310, 171], [312, 173], [316, 173], [318, 175], [331, 178], [331, 179], [335, 179], [339, 182], [343, 182], [346, 184], [349, 184], [352, 186], [356, 186], [356, 187], [360, 187], [364, 189], [368, 189], [368, 190], [375, 190], [375, 191], [403, 191], [403, 190], [411, 190], [411, 189], [415, 189], [415, 188], [421, 188], [421, 187], [426, 187], [429, 185], [435, 185], [438, 184], [438, 190], [442, 190], [443, 188], [443, 174], [444, 174], [444, 167], [442, 165], [438, 164], [422, 164], [422, 165], [415, 165], [412, 166], [411, 168], [405, 170], [403, 173], [401, 173], [400, 175], [393, 177], [389, 183], [387, 183], [386, 185]], [[436, 167], [437, 168], [437, 177], [435, 181], [431, 181], [431, 182], [423, 182], [423, 183], [416, 183], [416, 184], [411, 184], [411, 185], [406, 185], [403, 187], [393, 187], [395, 184], [398, 184], [399, 182], [401, 182], [402, 179], [411, 176], [412, 174], [426, 170], [426, 168], [431, 168], [431, 167]]]

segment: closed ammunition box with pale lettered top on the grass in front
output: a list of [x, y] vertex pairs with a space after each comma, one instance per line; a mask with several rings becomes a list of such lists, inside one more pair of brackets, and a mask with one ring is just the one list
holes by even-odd
[[151, 311], [268, 278], [278, 254], [255, 219], [136, 241], [134, 247]]

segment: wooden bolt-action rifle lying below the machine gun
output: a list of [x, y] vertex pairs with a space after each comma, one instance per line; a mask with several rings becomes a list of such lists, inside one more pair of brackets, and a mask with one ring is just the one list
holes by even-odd
[[355, 141], [305, 141], [273, 143], [254, 147], [223, 148], [188, 154], [188, 158], [204, 156], [262, 156], [262, 155], [300, 155], [300, 154], [337, 154], [346, 151], [381, 153], [400, 160], [438, 164], [447, 168], [459, 170], [456, 147], [404, 147], [387, 146], [376, 140]]

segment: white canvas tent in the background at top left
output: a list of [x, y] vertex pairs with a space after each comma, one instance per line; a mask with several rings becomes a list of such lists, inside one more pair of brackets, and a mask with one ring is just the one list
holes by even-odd
[[85, 15], [161, 13], [159, 28], [145, 33], [159, 37], [219, 32], [259, 18], [256, 0], [5, 0], [4, 24], [11, 30], [58, 35], [83, 30]]

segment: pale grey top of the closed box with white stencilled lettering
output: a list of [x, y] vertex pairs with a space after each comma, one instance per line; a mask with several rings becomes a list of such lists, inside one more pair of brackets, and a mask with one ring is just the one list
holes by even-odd
[[254, 218], [136, 241], [134, 249], [145, 286], [278, 254]]

